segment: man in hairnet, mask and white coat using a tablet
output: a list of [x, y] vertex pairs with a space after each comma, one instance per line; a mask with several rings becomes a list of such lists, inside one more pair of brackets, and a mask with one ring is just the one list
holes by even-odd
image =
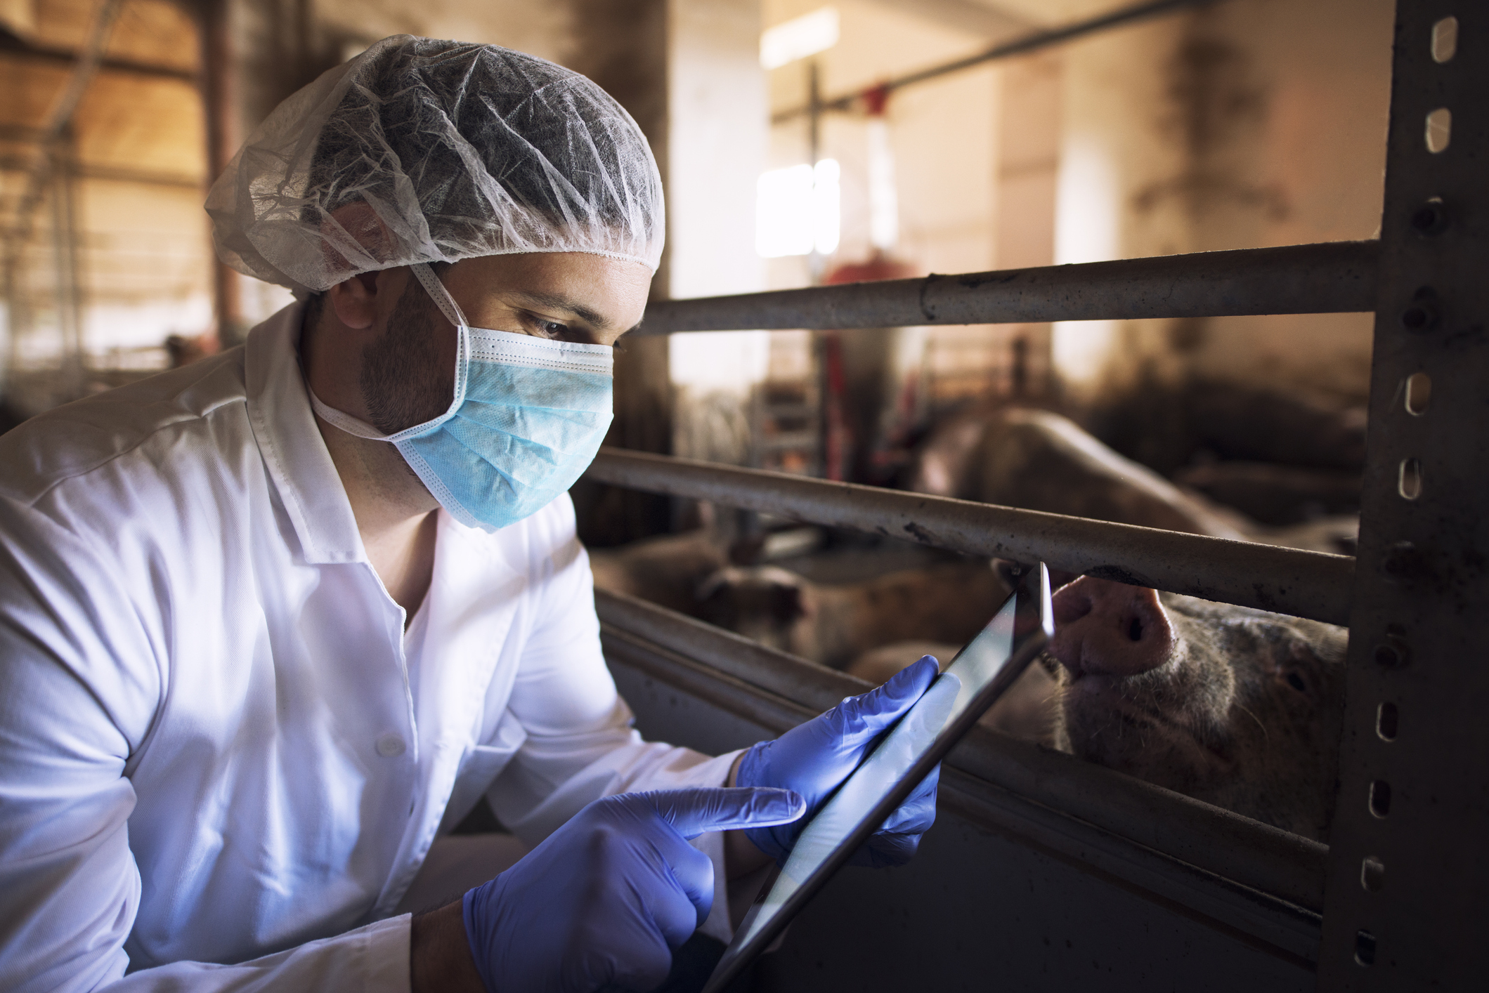
[[[399, 36], [208, 211], [305, 302], [0, 441], [0, 987], [654, 987], [935, 667], [743, 753], [630, 728], [564, 491], [661, 253], [645, 138]], [[862, 855], [905, 861], [934, 789]], [[521, 861], [450, 858], [482, 795]]]

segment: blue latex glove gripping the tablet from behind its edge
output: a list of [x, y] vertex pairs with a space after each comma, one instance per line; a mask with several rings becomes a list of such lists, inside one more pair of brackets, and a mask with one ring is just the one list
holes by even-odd
[[[822, 716], [786, 731], [774, 741], [752, 746], [740, 759], [736, 782], [740, 786], [783, 786], [807, 801], [814, 814], [838, 783], [864, 761], [879, 735], [904, 715], [937, 677], [935, 658], [895, 673], [883, 686], [861, 697], [849, 697]], [[850, 859], [852, 865], [904, 865], [916, 853], [920, 835], [935, 822], [935, 788], [941, 779], [937, 765], [904, 804], [870, 835]], [[785, 862], [807, 817], [794, 823], [750, 828], [744, 832], [765, 855]]]

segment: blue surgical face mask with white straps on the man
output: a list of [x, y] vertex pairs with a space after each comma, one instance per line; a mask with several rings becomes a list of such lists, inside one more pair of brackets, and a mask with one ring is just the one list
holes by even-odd
[[573, 485], [612, 418], [613, 350], [471, 328], [427, 265], [411, 266], [459, 329], [454, 400], [396, 435], [310, 402], [359, 438], [387, 441], [462, 524], [494, 531]]

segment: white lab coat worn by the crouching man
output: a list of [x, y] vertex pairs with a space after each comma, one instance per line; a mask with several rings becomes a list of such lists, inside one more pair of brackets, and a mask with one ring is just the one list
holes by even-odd
[[567, 496], [441, 512], [405, 658], [301, 313], [0, 438], [0, 989], [406, 990], [390, 914], [482, 794], [535, 844], [727, 777], [630, 728]]

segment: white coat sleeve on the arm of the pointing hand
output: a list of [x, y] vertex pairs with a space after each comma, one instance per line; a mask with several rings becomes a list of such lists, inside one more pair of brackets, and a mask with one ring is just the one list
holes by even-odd
[[0, 989], [406, 990], [406, 917], [244, 965], [125, 975], [141, 898], [128, 761], [168, 685], [159, 628], [103, 546], [0, 500]]

